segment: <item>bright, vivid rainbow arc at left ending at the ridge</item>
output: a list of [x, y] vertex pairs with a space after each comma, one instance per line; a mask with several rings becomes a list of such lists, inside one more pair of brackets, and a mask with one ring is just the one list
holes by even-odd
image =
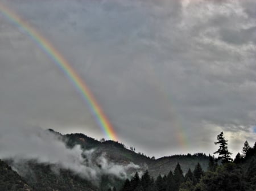
[[0, 3], [0, 13], [2, 13], [5, 18], [7, 18], [15, 26], [22, 28], [24, 32], [27, 33], [30, 38], [39, 45], [39, 47], [55, 62], [57, 67], [63, 71], [65, 76], [72, 82], [79, 91], [82, 99], [89, 106], [97, 124], [100, 126], [105, 135], [112, 140], [117, 141], [117, 135], [113, 129], [112, 124], [108, 120], [108, 117], [102, 111], [102, 108], [97, 103], [96, 98], [93, 96], [92, 92], [89, 90], [86, 83], [81, 79], [79, 74], [73, 69], [73, 67], [68, 63], [67, 60], [56, 50], [49, 41], [44, 38], [38, 31], [32, 28], [26, 21], [24, 21], [20, 16], [11, 11], [8, 7]]

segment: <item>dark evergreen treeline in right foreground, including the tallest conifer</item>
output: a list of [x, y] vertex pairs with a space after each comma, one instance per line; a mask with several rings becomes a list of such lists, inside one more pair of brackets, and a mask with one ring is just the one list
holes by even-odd
[[[201, 165], [184, 174], [177, 163], [174, 172], [159, 175], [155, 180], [148, 171], [141, 177], [138, 173], [127, 179], [119, 191], [255, 191], [256, 190], [256, 142], [250, 147], [245, 141], [242, 154], [230, 158], [228, 141], [223, 132], [217, 136], [216, 145], [220, 148], [214, 152], [217, 158], [209, 155], [208, 169], [203, 171]], [[116, 191], [109, 188], [108, 191]]]

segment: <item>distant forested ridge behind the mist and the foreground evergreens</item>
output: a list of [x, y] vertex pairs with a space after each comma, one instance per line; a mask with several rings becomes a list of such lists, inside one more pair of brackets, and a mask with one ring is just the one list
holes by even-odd
[[100, 142], [84, 134], [66, 134], [62, 136], [71, 148], [75, 145], [81, 145], [85, 150], [94, 148], [98, 154], [105, 152], [108, 159], [114, 163], [128, 164], [132, 162], [138, 164], [142, 169], [148, 169], [153, 177], [157, 177], [159, 174], [167, 175], [170, 170], [173, 172], [177, 163], [180, 163], [184, 173], [189, 168], [193, 170], [197, 163], [200, 163], [203, 170], [206, 171], [209, 163], [209, 157], [202, 153], [164, 156], [163, 158], [154, 159], [140, 152], [131, 151], [122, 143], [114, 141]]

